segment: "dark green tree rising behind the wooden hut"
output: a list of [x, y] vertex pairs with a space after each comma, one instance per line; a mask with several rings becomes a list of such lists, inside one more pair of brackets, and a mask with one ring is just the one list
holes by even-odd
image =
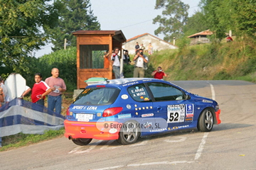
[[58, 0], [61, 4], [58, 28], [48, 30], [52, 50], [63, 49], [65, 38], [67, 46], [76, 47], [76, 38], [72, 33], [76, 30], [100, 30], [100, 23], [90, 9], [90, 0]]

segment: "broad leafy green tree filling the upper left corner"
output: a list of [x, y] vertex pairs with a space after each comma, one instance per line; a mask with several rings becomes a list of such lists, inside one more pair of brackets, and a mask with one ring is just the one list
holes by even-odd
[[29, 56], [45, 45], [43, 30], [55, 26], [58, 10], [43, 0], [0, 0], [0, 4], [0, 69], [28, 72]]

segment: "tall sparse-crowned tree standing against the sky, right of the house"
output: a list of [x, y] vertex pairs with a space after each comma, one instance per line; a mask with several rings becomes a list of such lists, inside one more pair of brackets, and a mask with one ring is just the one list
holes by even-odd
[[180, 0], [156, 0], [155, 9], [164, 8], [162, 16], [156, 16], [153, 23], [159, 23], [154, 33], [164, 34], [164, 40], [171, 41], [174, 37], [178, 38], [183, 33], [183, 26], [188, 20], [187, 4]]

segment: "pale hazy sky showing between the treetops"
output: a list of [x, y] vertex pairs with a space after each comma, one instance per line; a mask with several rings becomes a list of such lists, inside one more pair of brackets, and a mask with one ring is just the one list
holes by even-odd
[[[200, 0], [181, 0], [190, 6], [188, 16], [198, 10]], [[154, 34], [158, 28], [153, 18], [161, 15], [162, 9], [154, 9], [156, 0], [90, 0], [94, 16], [100, 23], [101, 30], [122, 30], [128, 40], [144, 33]], [[157, 35], [164, 39], [164, 35]], [[64, 41], [63, 41], [64, 43]], [[36, 51], [36, 57], [50, 54], [52, 44]]]

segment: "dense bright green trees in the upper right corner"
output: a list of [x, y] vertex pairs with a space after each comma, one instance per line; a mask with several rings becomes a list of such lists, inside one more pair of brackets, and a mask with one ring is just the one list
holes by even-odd
[[223, 38], [228, 30], [236, 35], [255, 35], [255, 0], [201, 0], [201, 6], [217, 38]]

